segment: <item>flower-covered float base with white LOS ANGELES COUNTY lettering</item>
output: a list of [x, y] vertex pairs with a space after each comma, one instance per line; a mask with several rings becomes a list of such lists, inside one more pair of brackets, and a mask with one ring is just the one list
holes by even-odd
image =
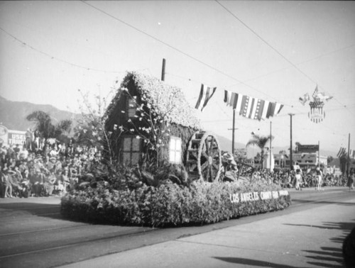
[[163, 184], [114, 190], [104, 184], [62, 197], [65, 218], [117, 225], [201, 225], [287, 208], [291, 199], [279, 186], [226, 182]]

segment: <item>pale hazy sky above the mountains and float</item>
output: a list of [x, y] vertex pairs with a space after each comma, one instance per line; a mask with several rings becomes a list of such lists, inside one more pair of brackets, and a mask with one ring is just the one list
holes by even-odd
[[[89, 6], [89, 5], [92, 6]], [[94, 6], [94, 7], [93, 7]], [[95, 9], [96, 8], [96, 9]], [[224, 89], [284, 104], [274, 146], [355, 149], [354, 1], [1, 1], [0, 95], [79, 112], [77, 89], [107, 96], [126, 71], [179, 86], [205, 129], [231, 138]], [[313, 123], [298, 98], [316, 85], [333, 99]], [[270, 120], [236, 116], [236, 141], [270, 133]]]

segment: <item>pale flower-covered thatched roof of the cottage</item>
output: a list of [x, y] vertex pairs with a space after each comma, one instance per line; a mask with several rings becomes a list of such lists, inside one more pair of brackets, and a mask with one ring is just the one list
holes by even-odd
[[134, 83], [141, 99], [146, 102], [146, 106], [153, 109], [159, 116], [164, 116], [168, 123], [201, 129], [200, 120], [195, 116], [195, 109], [188, 104], [180, 88], [138, 72], [129, 72], [124, 77], [120, 89], [107, 108], [107, 115], [114, 110], [121, 93], [127, 90], [130, 82]]

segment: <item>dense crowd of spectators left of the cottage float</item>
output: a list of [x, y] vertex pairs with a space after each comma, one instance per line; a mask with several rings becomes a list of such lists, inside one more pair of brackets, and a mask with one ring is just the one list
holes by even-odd
[[65, 194], [78, 178], [101, 162], [96, 147], [69, 143], [0, 146], [2, 198]]

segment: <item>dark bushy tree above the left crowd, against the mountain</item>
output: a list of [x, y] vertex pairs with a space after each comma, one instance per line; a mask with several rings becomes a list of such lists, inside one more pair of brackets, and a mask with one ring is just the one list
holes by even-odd
[[53, 125], [52, 118], [44, 111], [33, 111], [26, 116], [28, 121], [35, 123], [35, 129], [41, 138], [48, 140], [49, 138], [56, 138], [62, 141], [65, 138], [65, 133], [69, 134], [72, 128], [72, 121], [65, 119], [58, 124]]

